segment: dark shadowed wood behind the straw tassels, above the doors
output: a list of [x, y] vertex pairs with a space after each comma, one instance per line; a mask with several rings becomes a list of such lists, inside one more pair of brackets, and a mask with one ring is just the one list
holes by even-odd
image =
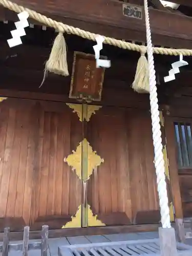
[[[0, 89], [68, 94], [70, 76], [62, 77], [49, 74], [45, 84], [39, 89], [43, 77], [45, 61], [49, 57], [56, 33], [52, 29], [42, 30], [41, 26], [26, 28], [26, 36], [22, 37], [23, 45], [9, 48], [7, 39], [14, 23], [0, 23]], [[74, 35], [65, 35], [68, 46], [68, 65], [71, 74], [73, 52], [81, 51], [94, 54], [93, 41]], [[102, 55], [111, 59], [112, 67], [105, 72], [104, 87], [117, 90], [128, 90], [134, 80], [139, 53], [104, 45]], [[191, 78], [192, 62], [184, 57], [189, 65], [181, 68], [176, 80], [164, 83], [163, 77], [168, 75], [171, 64], [178, 60], [177, 56], [155, 55], [155, 66], [158, 80], [158, 91], [161, 102], [167, 103], [173, 96], [192, 95]], [[53, 84], [55, 86], [53, 87]], [[67, 86], [66, 86], [67, 84]]]

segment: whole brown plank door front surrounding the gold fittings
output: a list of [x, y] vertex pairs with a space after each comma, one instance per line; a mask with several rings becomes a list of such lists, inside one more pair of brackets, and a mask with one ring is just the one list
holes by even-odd
[[160, 221], [148, 111], [103, 106], [86, 130], [65, 102], [8, 98], [0, 112], [1, 230], [72, 220], [82, 182], [63, 160], [84, 137], [104, 159], [88, 182], [93, 215], [105, 225]]

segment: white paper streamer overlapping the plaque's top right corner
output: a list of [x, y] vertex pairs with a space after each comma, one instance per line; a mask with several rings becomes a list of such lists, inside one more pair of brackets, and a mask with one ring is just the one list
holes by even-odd
[[96, 59], [96, 68], [103, 67], [103, 68], [110, 68], [111, 67], [111, 60], [108, 59], [99, 59], [100, 57], [100, 50], [103, 49], [103, 41], [104, 37], [98, 35], [96, 37], [97, 45], [93, 46], [95, 51], [95, 59]]

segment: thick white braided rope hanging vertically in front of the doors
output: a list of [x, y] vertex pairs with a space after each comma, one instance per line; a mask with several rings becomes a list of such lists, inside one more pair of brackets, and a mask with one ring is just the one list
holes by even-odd
[[157, 98], [156, 75], [154, 67], [153, 47], [150, 28], [150, 16], [148, 14], [147, 0], [144, 0], [145, 24], [146, 24], [146, 40], [147, 40], [147, 55], [148, 69], [150, 78], [150, 104], [152, 116], [152, 131], [153, 144], [155, 151], [155, 168], [157, 175], [157, 190], [159, 195], [159, 205], [161, 211], [161, 223], [163, 228], [170, 228], [170, 216], [168, 207], [167, 188], [165, 181], [165, 167], [163, 159], [163, 146], [161, 139], [161, 127], [159, 119], [159, 106]]

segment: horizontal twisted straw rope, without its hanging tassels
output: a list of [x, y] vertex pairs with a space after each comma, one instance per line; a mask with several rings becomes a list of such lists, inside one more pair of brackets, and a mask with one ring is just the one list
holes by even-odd
[[[51, 18], [46, 17], [45, 15], [41, 15], [40, 13], [37, 13], [36, 11], [30, 10], [28, 8], [25, 8], [23, 6], [19, 6], [15, 3], [12, 3], [11, 1], [8, 0], [0, 0], [0, 5], [4, 6], [5, 8], [8, 8], [11, 11], [20, 13], [23, 11], [27, 11], [29, 13], [29, 16], [37, 22], [45, 24], [48, 27], [52, 27], [62, 33], [66, 32], [69, 34], [74, 34], [78, 35], [82, 38], [86, 38], [89, 40], [95, 41], [97, 34], [84, 31], [79, 28], [74, 28], [72, 26], [68, 26], [66, 24], [63, 24], [61, 22], [57, 22], [56, 20], [53, 20]], [[122, 49], [127, 49], [127, 50], [132, 50], [132, 51], [137, 51], [137, 52], [146, 52], [146, 47], [145, 46], [139, 46], [136, 44], [132, 44], [131, 42], [125, 42], [122, 40], [117, 40], [115, 38], [111, 37], [104, 37], [104, 44], [116, 46]], [[164, 55], [180, 55], [183, 54], [184, 56], [191, 56], [192, 55], [192, 50], [188, 49], [168, 49], [168, 48], [161, 48], [161, 47], [154, 47], [153, 52], [156, 54], [164, 54]]]

